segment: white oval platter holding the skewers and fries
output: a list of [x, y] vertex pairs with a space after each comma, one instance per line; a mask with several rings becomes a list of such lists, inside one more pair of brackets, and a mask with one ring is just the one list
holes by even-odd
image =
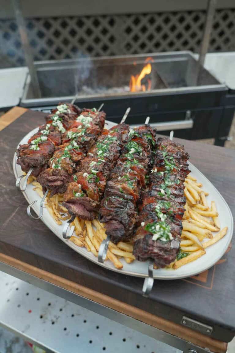
[[[105, 127], [111, 128], [113, 125], [115, 125], [113, 122], [106, 121]], [[20, 141], [19, 144], [27, 143], [27, 140], [30, 138], [30, 136], [32, 136], [35, 132], [37, 132], [37, 130], [38, 128], [35, 128], [34, 130], [30, 131]], [[21, 167], [18, 164], [16, 164], [16, 159], [17, 159], [17, 156], [15, 153], [13, 158], [13, 170], [14, 170], [15, 177], [18, 178], [22, 174], [22, 171], [21, 171]], [[211, 182], [196, 167], [194, 167], [193, 164], [191, 163], [189, 164], [190, 164], [189, 168], [191, 169], [191, 175], [197, 178], [198, 181], [203, 184], [204, 190], [209, 192], [208, 202], [210, 203], [212, 200], [214, 200], [216, 203], [216, 207], [219, 213], [219, 219], [221, 222], [221, 229], [227, 226], [228, 232], [225, 235], [225, 237], [223, 237], [214, 245], [208, 247], [206, 249], [206, 254], [200, 257], [199, 259], [197, 259], [196, 261], [188, 263], [177, 270], [174, 270], [174, 269], [154, 270], [153, 274], [155, 279], [161, 279], [161, 280], [180, 279], [180, 278], [197, 275], [209, 269], [224, 255], [225, 251], [227, 250], [230, 244], [231, 238], [233, 236], [233, 216], [228, 207], [228, 204], [221, 196], [221, 194], [218, 192], [218, 190], [211, 184]], [[36, 191], [33, 191], [33, 185], [31, 184], [27, 185], [27, 189], [25, 192], [23, 192], [23, 195], [26, 198], [28, 203], [31, 203], [34, 200], [37, 200], [37, 202], [33, 205], [32, 208], [36, 212], [36, 214], [38, 214], [39, 202], [41, 198], [39, 197]], [[25, 211], [22, 210], [22, 212], [25, 212], [25, 217], [28, 217], [26, 214], [26, 209]], [[80, 255], [96, 263], [97, 265], [105, 267], [106, 269], [109, 269], [112, 271], [122, 273], [124, 275], [137, 276], [137, 277], [148, 276], [148, 261], [146, 262], [134, 261], [133, 263], [127, 264], [123, 259], [120, 259], [120, 261], [123, 263], [123, 268], [121, 270], [116, 269], [109, 260], [105, 261], [104, 263], [99, 263], [97, 257], [95, 257], [91, 252], [88, 252], [86, 248], [79, 247], [75, 245], [72, 241], [66, 240], [62, 237], [62, 229], [65, 222], [63, 222], [63, 225], [58, 226], [55, 223], [55, 221], [52, 219], [52, 217], [50, 216], [46, 208], [44, 208], [43, 210], [43, 216], [41, 220], [65, 244], [67, 244], [73, 250], [78, 252]], [[35, 222], [38, 222], [38, 221], [35, 221]]]

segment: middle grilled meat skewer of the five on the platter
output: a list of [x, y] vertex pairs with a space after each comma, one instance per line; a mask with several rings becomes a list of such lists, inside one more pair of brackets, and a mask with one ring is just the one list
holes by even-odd
[[63, 205], [73, 216], [93, 220], [97, 214], [110, 171], [116, 164], [128, 135], [128, 125], [104, 130], [81, 161], [74, 181], [68, 185]]

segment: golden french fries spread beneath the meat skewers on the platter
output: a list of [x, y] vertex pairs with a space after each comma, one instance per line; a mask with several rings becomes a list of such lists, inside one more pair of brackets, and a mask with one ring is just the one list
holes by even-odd
[[[35, 186], [33, 190], [39, 196], [43, 196], [42, 186], [34, 177], [30, 177], [28, 183], [32, 183]], [[168, 268], [173, 269], [178, 269], [205, 255], [205, 249], [222, 239], [228, 229], [228, 227], [220, 229], [215, 202], [211, 201], [211, 205], [208, 205], [206, 196], [209, 194], [201, 189], [203, 185], [198, 183], [197, 179], [191, 175], [187, 176], [184, 185], [186, 204], [180, 247], [181, 252], [187, 256], [174, 261], [168, 266]], [[51, 197], [49, 195], [45, 199], [45, 206], [58, 225], [62, 225], [62, 221], [70, 218], [67, 209], [62, 206], [62, 202], [62, 194]], [[72, 226], [74, 226], [75, 233], [69, 240], [77, 246], [86, 247], [87, 251], [91, 251], [94, 256], [98, 257], [100, 244], [107, 237], [105, 225], [98, 220], [84, 221], [76, 217], [70, 224], [70, 227]], [[212, 232], [217, 233], [213, 235]], [[106, 259], [109, 259], [117, 269], [122, 269], [123, 264], [120, 258], [124, 258], [125, 262], [129, 264], [135, 260], [132, 252], [133, 244], [131, 242], [124, 243], [120, 241], [115, 245], [110, 241]]]

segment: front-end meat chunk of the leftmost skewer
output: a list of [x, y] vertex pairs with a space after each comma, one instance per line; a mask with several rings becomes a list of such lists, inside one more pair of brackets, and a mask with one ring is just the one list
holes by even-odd
[[[17, 164], [21, 166], [23, 172], [27, 173], [33, 168], [32, 175], [37, 177], [42, 170], [48, 167], [48, 161], [55, 151], [55, 145], [51, 140], [41, 137], [31, 141], [31, 144], [20, 145], [17, 149]], [[37, 141], [38, 143], [32, 144]]]

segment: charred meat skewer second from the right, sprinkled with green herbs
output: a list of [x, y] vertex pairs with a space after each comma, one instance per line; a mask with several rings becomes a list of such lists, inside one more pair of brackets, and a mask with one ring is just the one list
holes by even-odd
[[145, 177], [152, 163], [154, 146], [154, 133], [149, 125], [132, 130], [106, 184], [99, 217], [115, 244], [132, 236], [138, 219], [137, 203], [141, 190], [146, 188]]

